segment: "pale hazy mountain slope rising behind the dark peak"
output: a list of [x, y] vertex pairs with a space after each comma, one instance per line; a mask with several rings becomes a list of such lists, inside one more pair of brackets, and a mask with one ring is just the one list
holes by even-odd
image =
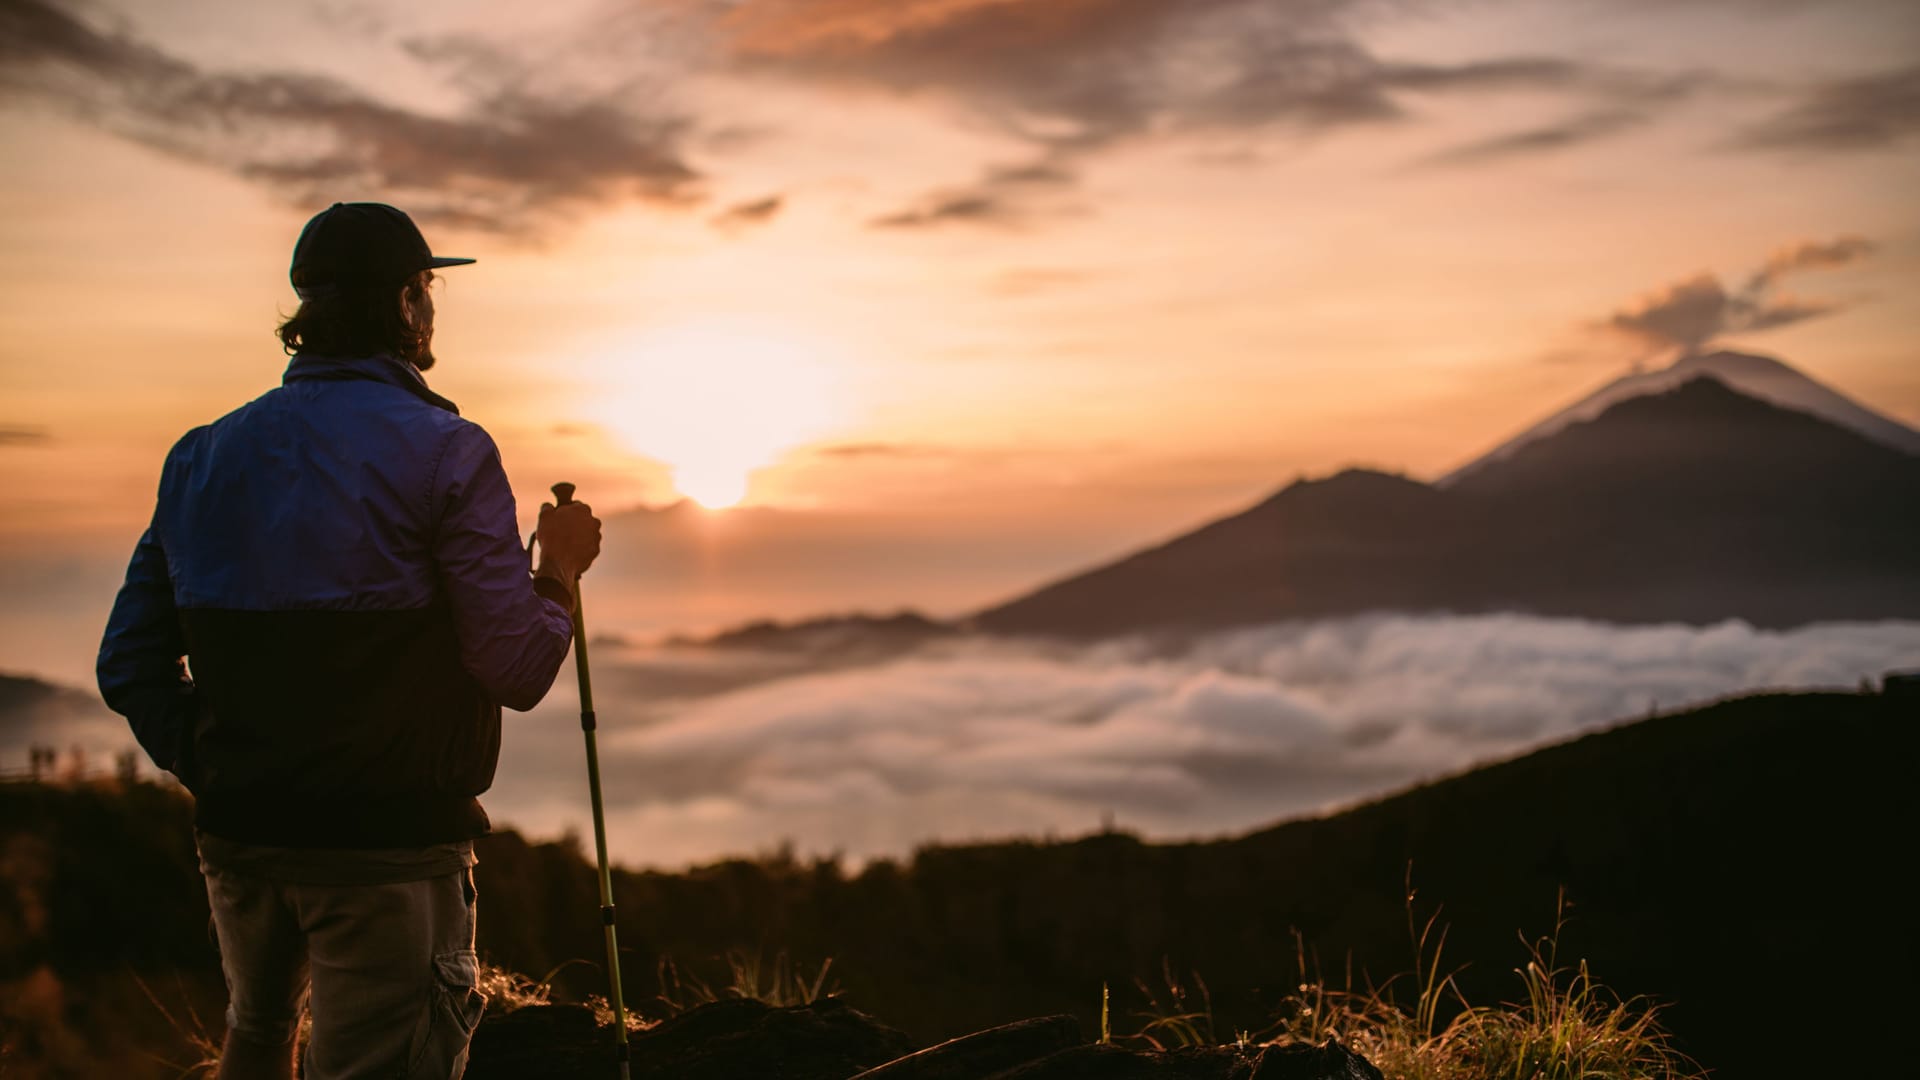
[[1768, 402], [1784, 409], [1812, 413], [1828, 423], [1864, 434], [1882, 446], [1889, 446], [1905, 454], [1920, 454], [1920, 430], [1876, 413], [1853, 398], [1847, 398], [1839, 390], [1834, 390], [1832, 386], [1770, 356], [1722, 350], [1682, 356], [1672, 363], [1672, 367], [1665, 367], [1661, 371], [1622, 375], [1586, 398], [1580, 398], [1572, 405], [1567, 405], [1551, 417], [1509, 438], [1482, 457], [1448, 473], [1436, 480], [1434, 486], [1452, 486], [1488, 465], [1513, 457], [1513, 454], [1517, 454], [1523, 446], [1548, 438], [1580, 421], [1590, 421], [1620, 402], [1644, 398], [1647, 394], [1665, 394], [1667, 390], [1699, 379], [1701, 375], [1718, 379], [1749, 398], [1759, 398], [1761, 402]]

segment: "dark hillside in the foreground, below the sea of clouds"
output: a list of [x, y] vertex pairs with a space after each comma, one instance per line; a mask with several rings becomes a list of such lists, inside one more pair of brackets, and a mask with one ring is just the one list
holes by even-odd
[[[1672, 1001], [1703, 1063], [1841, 1074], [1884, 1053], [1914, 994], [1901, 957], [1920, 944], [1903, 888], [1916, 723], [1910, 698], [1759, 696], [1238, 840], [931, 847], [856, 874], [781, 857], [620, 872], [628, 997], [659, 992], [662, 957], [708, 980], [728, 949], [833, 957], [856, 1007], [931, 1042], [1060, 1011], [1094, 1030], [1102, 982], [1125, 1017], [1131, 980], [1165, 961], [1206, 978], [1219, 1030], [1258, 1028], [1298, 982], [1294, 930], [1334, 982], [1348, 965], [1356, 980], [1411, 965], [1411, 863], [1415, 907], [1444, 905], [1446, 959], [1469, 965], [1476, 1001], [1513, 994], [1515, 934], [1549, 930], [1565, 888], [1563, 959]], [[86, 1017], [90, 978], [217, 970], [182, 798], [8, 784], [0, 822], [0, 986], [54, 972]], [[484, 953], [534, 974], [584, 961], [559, 972], [563, 992], [597, 986], [578, 846], [503, 832], [482, 842], [478, 876]], [[1832, 1038], [1826, 1015], [1857, 1038]]]

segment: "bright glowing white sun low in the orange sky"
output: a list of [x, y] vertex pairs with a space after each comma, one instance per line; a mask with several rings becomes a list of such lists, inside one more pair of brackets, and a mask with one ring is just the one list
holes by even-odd
[[743, 502], [753, 475], [841, 415], [831, 350], [791, 327], [707, 317], [651, 331], [607, 356], [591, 409], [708, 507]]

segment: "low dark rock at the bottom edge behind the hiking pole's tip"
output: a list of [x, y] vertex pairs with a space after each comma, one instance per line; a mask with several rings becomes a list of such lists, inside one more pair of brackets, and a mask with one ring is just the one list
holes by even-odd
[[[628, 1036], [636, 1078], [847, 1080], [912, 1053], [912, 1042], [837, 997], [812, 1005], [714, 1001]], [[530, 1005], [486, 1017], [474, 1032], [467, 1080], [614, 1076], [612, 1028], [584, 1005]]]

